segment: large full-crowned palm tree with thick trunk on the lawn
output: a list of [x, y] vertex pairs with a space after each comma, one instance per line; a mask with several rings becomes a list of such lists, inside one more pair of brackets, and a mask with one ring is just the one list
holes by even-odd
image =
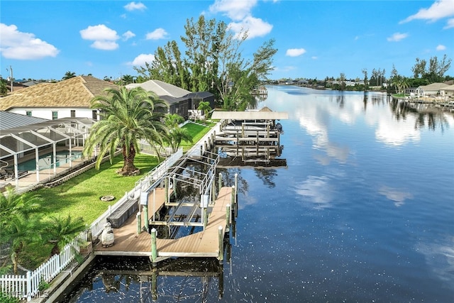
[[96, 169], [101, 160], [109, 153], [110, 160], [119, 147], [123, 150], [123, 167], [121, 175], [131, 175], [137, 170], [134, 166], [135, 154], [139, 153], [140, 140], [154, 146], [162, 146], [162, 138], [167, 136], [167, 127], [162, 122], [167, 111], [165, 101], [157, 98], [153, 92], [141, 87], [131, 90], [106, 89], [106, 96], [92, 99], [92, 109], [101, 110], [102, 120], [92, 126], [84, 146], [84, 155], [92, 155], [99, 145]]

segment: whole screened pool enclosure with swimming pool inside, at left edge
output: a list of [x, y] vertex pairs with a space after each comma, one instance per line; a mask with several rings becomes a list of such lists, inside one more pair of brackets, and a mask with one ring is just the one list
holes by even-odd
[[89, 128], [95, 122], [63, 118], [0, 130], [0, 182], [9, 180], [18, 187], [23, 177], [36, 183], [57, 175], [63, 167], [71, 168], [82, 158]]

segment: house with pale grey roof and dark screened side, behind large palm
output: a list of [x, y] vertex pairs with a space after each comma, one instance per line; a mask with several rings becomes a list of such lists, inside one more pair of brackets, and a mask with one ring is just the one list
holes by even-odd
[[172, 84], [160, 80], [148, 80], [143, 83], [131, 83], [126, 85], [127, 89], [142, 87], [148, 92], [154, 92], [157, 97], [164, 100], [169, 106], [167, 114], [178, 114], [184, 119], [189, 118], [189, 113], [199, 107], [201, 101], [209, 101], [214, 109], [214, 94], [210, 92], [189, 92]]

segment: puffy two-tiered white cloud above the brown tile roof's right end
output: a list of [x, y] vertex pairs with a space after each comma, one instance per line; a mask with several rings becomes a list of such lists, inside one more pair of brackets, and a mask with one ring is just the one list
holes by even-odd
[[116, 31], [104, 24], [89, 26], [79, 31], [79, 33], [84, 40], [94, 40], [94, 43], [90, 45], [92, 48], [98, 50], [116, 50], [118, 48], [118, 44], [115, 41], [120, 37]]

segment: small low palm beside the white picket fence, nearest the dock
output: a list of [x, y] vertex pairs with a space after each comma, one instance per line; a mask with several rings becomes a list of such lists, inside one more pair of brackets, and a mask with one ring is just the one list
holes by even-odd
[[84, 231], [85, 228], [86, 226], [82, 217], [73, 219], [71, 216], [65, 218], [51, 216], [49, 221], [45, 222], [45, 228], [43, 228], [45, 241], [53, 245], [50, 251], [50, 257], [59, 254], [60, 250], [67, 243], [70, 243], [77, 234]]

